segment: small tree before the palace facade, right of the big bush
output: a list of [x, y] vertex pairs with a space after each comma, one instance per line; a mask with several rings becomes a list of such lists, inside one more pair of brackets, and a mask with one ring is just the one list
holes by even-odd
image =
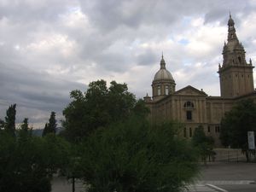
[[214, 140], [212, 137], [207, 137], [204, 128], [200, 125], [195, 128], [192, 137], [193, 145], [198, 149], [201, 155], [201, 160], [207, 162], [207, 157], [212, 157], [215, 153], [213, 151]]

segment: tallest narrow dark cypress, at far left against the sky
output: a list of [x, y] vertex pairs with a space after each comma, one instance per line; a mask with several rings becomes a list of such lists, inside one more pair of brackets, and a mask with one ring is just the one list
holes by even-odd
[[11, 105], [6, 111], [4, 129], [9, 134], [15, 137], [15, 117], [16, 117], [16, 104]]

